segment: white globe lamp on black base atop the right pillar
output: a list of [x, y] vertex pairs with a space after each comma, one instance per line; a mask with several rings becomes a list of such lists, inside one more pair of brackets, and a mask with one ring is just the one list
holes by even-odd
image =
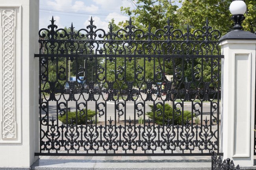
[[233, 0], [229, 6], [230, 13], [232, 14], [231, 19], [234, 21], [234, 30], [239, 31], [243, 29], [241, 26], [242, 21], [245, 20], [244, 13], [246, 12], [246, 4], [243, 0]]

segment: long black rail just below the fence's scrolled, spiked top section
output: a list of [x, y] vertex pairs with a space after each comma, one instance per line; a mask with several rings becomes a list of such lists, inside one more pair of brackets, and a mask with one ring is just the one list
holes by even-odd
[[35, 57], [160, 57], [160, 58], [224, 58], [224, 55], [133, 55], [133, 54], [35, 54]]

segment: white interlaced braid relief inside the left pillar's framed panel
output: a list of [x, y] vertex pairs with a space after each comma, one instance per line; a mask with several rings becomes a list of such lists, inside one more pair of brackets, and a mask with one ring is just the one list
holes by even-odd
[[16, 138], [15, 9], [1, 10], [2, 20], [2, 139]]

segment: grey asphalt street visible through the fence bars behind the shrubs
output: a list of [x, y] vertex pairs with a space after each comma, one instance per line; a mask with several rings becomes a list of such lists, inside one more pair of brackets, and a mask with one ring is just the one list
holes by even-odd
[[[79, 97], [80, 96], [80, 97]], [[63, 95], [59, 95], [57, 96], [59, 99], [58, 104], [61, 102], [65, 102], [64, 97], [67, 99], [68, 95], [65, 94]], [[87, 94], [84, 94], [84, 98], [86, 99], [88, 96]], [[142, 96], [143, 98], [145, 98], [146, 96]], [[104, 99], [102, 98], [102, 96], [99, 95], [95, 95], [95, 98], [98, 99], [97, 104], [95, 101], [88, 101], [87, 103], [85, 102], [85, 100], [83, 99], [82, 95], [76, 94], [75, 95], [76, 99], [79, 99], [77, 102], [76, 101], [69, 101], [68, 102], [68, 108], [70, 108], [71, 112], [75, 112], [76, 111], [76, 104], [79, 104], [81, 102], [84, 102], [85, 104], [87, 104], [87, 109], [90, 110], [97, 110], [97, 104], [101, 103], [98, 105], [98, 110], [103, 109], [102, 111], [104, 112], [104, 115], [102, 117], [98, 117], [98, 121], [104, 121], [105, 120], [105, 116], [106, 119], [109, 120], [109, 118], [111, 117], [111, 119], [115, 119], [115, 115], [117, 115], [118, 111], [115, 110], [115, 105], [118, 103], [117, 101], [107, 101], [105, 102]], [[46, 98], [47, 99], [47, 98]], [[156, 99], [156, 96], [154, 96], [154, 99]], [[165, 96], [162, 96], [162, 99], [165, 99]], [[44, 100], [45, 101], [45, 100]], [[157, 102], [163, 102], [161, 99], [155, 101], [155, 104]], [[123, 101], [123, 100], [119, 100], [119, 110], [121, 110], [121, 113], [123, 112], [123, 115], [120, 117], [120, 120], [124, 120], [124, 119], [129, 119], [129, 117], [131, 117], [131, 119], [134, 119], [134, 117], [136, 117], [136, 119], [138, 119], [138, 113], [140, 114], [144, 114], [146, 112], [150, 112], [150, 107], [148, 105], [153, 104], [153, 101], [147, 101], [147, 102], [143, 102], [143, 100], [141, 99], [141, 96], [137, 99], [137, 101]], [[170, 102], [165, 102], [165, 103], [169, 103]], [[104, 107], [105, 105], [105, 107]], [[136, 110], [136, 105], [137, 105], [137, 110]], [[144, 107], [143, 107], [143, 106]], [[83, 104], [79, 105], [81, 108], [85, 108], [83, 106]], [[64, 108], [64, 104], [60, 104], [60, 108]], [[179, 105], [177, 105], [178, 108], [181, 108]], [[139, 111], [141, 109], [141, 111]], [[199, 109], [201, 111], [200, 106], [197, 104], [195, 105], [195, 109]], [[57, 116], [57, 102], [56, 101], [49, 101], [49, 107], [48, 107], [48, 112], [49, 112], [49, 116], [52, 117], [54, 116], [54, 119], [56, 119]], [[188, 111], [192, 111], [193, 110], [193, 106], [191, 105], [191, 102], [184, 102], [184, 111], [188, 110]], [[208, 117], [208, 119], [210, 119], [210, 102], [204, 102], [202, 105], [202, 116], [203, 119], [205, 119], [206, 117]], [[138, 112], [139, 111], [139, 112]], [[220, 111], [220, 109], [219, 109]], [[101, 113], [103, 113], [101, 112]], [[216, 115], [216, 114], [215, 114]], [[145, 118], [147, 119], [147, 115], [145, 115]]]

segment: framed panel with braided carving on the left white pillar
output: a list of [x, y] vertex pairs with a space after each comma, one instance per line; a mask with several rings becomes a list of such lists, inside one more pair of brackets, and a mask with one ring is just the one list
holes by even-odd
[[0, 26], [0, 143], [20, 143], [21, 7], [0, 6]]

